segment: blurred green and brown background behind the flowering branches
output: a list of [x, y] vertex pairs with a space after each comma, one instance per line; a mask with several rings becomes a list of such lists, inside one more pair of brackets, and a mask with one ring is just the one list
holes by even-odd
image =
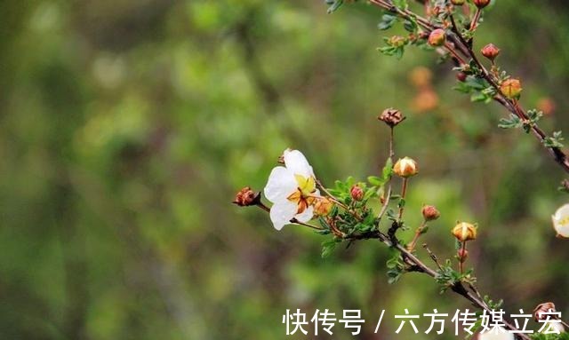
[[[377, 174], [385, 107], [408, 116], [397, 154], [421, 165], [410, 222], [424, 203], [442, 211], [425, 238], [438, 256], [453, 256], [456, 220], [476, 221], [481, 290], [510, 312], [569, 313], [567, 241], [550, 225], [564, 173], [497, 128], [501, 107], [453, 91], [434, 53], [376, 51], [380, 18], [319, 0], [0, 2], [0, 338], [280, 339], [287, 308], [328, 308], [366, 320], [335, 339], [393, 339], [404, 308], [468, 307], [421, 275], [388, 285], [376, 242], [322, 259], [322, 237], [230, 203], [289, 146], [325, 183]], [[499, 0], [485, 19], [477, 49], [500, 46], [523, 104], [569, 130], [567, 2]]]

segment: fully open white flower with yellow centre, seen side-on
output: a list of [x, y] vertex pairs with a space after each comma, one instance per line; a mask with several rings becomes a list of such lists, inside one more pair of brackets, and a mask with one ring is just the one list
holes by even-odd
[[320, 197], [314, 170], [298, 150], [284, 150], [284, 167], [277, 166], [268, 176], [265, 197], [273, 203], [270, 220], [276, 230], [296, 218], [308, 222], [314, 216], [313, 204]]

